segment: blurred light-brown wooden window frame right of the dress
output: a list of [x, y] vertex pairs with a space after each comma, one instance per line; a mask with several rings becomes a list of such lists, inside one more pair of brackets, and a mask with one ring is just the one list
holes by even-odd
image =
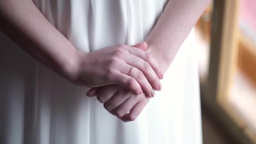
[[240, 56], [238, 12], [239, 0], [213, 2], [209, 69], [206, 83], [201, 85], [201, 101], [202, 109], [206, 109], [232, 139], [252, 144], [256, 143], [256, 136], [228, 101]]

